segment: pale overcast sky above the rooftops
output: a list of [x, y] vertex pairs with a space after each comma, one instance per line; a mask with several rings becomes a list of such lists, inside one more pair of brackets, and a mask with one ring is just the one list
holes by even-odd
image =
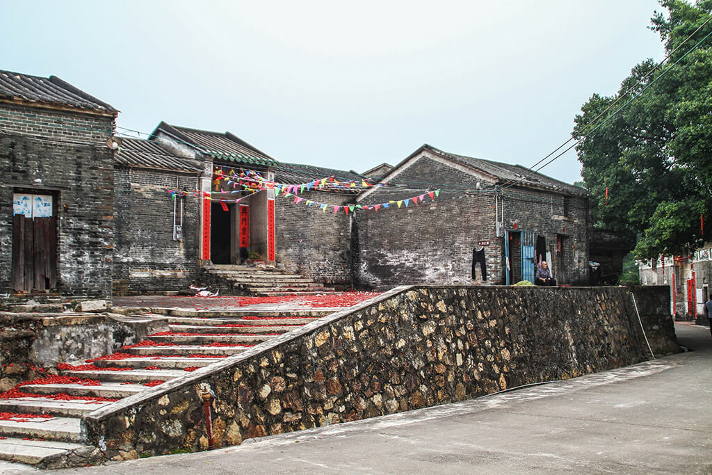
[[[0, 0], [0, 69], [57, 75], [117, 124], [229, 130], [363, 172], [428, 143], [530, 166], [663, 48], [654, 0]], [[145, 135], [142, 135], [145, 137]], [[575, 152], [542, 170], [580, 179]]]

